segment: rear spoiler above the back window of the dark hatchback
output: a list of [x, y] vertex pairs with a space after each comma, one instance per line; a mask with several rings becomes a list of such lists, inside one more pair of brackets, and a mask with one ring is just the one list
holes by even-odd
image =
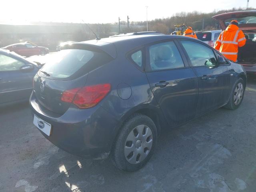
[[83, 49], [83, 50], [90, 50], [94, 52], [104, 52], [111, 56], [112, 58], [116, 58], [116, 47], [112, 43], [105, 43], [103, 42], [100, 45], [95, 44], [88, 44], [84, 42], [78, 42], [78, 43], [72, 43], [72, 44], [66, 44], [61, 47], [61, 50], [63, 49]]

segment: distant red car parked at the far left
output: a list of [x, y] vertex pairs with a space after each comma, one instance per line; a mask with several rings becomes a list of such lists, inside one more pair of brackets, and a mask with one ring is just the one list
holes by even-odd
[[31, 43], [16, 43], [12, 45], [8, 45], [3, 47], [3, 49], [7, 49], [21, 56], [32, 56], [32, 55], [45, 55], [49, 53], [49, 49], [46, 47], [40, 47]]

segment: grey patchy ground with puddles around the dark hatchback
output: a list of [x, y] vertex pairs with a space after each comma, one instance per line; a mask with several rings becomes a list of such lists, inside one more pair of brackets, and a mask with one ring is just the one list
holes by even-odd
[[160, 136], [138, 172], [86, 160], [46, 140], [28, 104], [0, 109], [1, 192], [255, 192], [256, 80], [238, 110], [218, 109]]

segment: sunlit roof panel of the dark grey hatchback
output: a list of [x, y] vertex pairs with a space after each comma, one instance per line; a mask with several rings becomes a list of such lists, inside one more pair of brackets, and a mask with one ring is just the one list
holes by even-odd
[[[168, 40], [168, 39], [194, 39], [186, 36], [176, 35], [132, 35], [132, 36], [118, 36], [102, 38], [100, 40], [88, 40], [76, 44], [88, 45], [90, 47], [100, 48], [104, 52], [108, 53], [113, 58], [116, 58], [117, 52], [126, 53], [132, 49], [138, 48], [145, 44], [150, 44], [157, 41]], [[196, 40], [196, 39], [194, 39]], [[198, 40], [199, 41], [199, 40]]]

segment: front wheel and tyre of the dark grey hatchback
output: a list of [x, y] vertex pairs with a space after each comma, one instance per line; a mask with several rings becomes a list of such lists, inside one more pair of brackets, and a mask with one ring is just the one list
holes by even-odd
[[235, 110], [237, 109], [244, 98], [245, 82], [242, 78], [238, 78], [234, 84], [228, 103], [224, 108]]

